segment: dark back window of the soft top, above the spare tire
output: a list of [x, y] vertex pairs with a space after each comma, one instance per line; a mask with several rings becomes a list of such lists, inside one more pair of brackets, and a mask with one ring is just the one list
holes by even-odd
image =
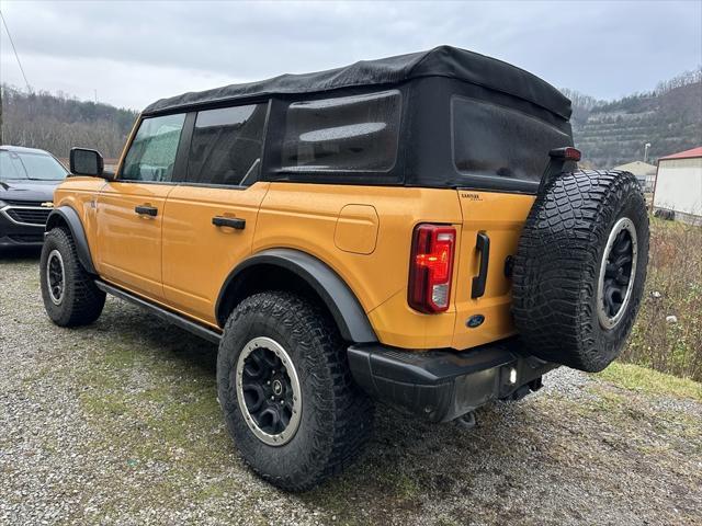
[[454, 96], [453, 162], [465, 174], [540, 181], [553, 148], [571, 146], [568, 134], [497, 104]]

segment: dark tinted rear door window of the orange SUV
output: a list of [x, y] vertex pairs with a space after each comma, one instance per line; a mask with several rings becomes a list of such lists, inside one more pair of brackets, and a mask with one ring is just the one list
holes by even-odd
[[188, 180], [248, 186], [256, 182], [268, 104], [199, 112], [190, 147]]

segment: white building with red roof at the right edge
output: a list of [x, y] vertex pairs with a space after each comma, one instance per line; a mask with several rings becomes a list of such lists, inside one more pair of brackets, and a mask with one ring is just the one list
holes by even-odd
[[702, 146], [658, 159], [654, 210], [672, 210], [676, 219], [702, 225]]

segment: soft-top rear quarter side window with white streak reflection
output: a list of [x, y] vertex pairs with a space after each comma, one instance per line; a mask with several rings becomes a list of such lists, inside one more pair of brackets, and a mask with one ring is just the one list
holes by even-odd
[[283, 170], [373, 171], [397, 157], [399, 91], [295, 102], [287, 108]]

